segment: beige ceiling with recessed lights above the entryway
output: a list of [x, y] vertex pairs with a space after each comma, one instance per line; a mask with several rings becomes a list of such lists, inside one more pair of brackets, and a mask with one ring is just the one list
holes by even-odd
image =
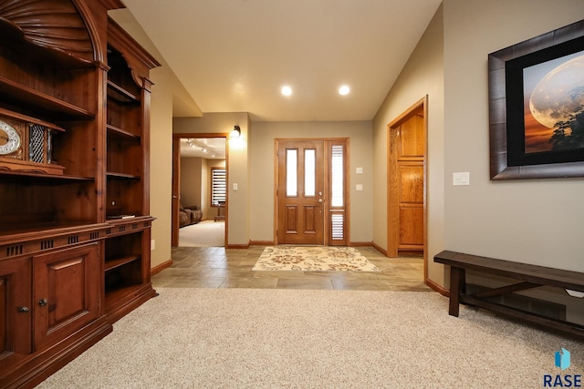
[[442, 2], [123, 1], [203, 113], [255, 121], [372, 119]]

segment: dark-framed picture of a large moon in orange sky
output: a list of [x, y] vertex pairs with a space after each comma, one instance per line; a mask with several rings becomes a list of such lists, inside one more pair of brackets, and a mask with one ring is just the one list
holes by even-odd
[[488, 91], [490, 179], [584, 177], [584, 20], [489, 54]]

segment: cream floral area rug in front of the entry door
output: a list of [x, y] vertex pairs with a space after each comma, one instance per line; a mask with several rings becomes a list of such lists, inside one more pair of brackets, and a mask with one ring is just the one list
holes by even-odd
[[254, 271], [380, 271], [352, 247], [269, 246]]

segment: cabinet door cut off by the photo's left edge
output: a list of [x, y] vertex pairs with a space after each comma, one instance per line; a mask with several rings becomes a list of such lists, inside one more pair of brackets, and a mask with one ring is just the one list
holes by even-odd
[[28, 260], [0, 261], [0, 371], [32, 351], [30, 274]]

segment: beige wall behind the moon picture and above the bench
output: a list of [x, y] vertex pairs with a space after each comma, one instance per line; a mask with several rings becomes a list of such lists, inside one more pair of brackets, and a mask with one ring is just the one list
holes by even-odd
[[[489, 180], [487, 55], [584, 18], [581, 0], [446, 0], [444, 249], [584, 271], [584, 179]], [[432, 168], [432, 165], [431, 165]], [[470, 172], [470, 186], [452, 174]]]

